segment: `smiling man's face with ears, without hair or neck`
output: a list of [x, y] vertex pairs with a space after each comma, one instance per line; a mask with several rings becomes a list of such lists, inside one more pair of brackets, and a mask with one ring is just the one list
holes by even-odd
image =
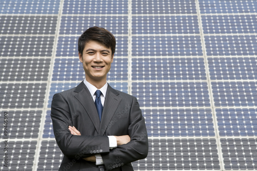
[[83, 53], [79, 53], [79, 60], [83, 63], [86, 80], [92, 82], [106, 82], [107, 73], [113, 62], [111, 47], [106, 47], [102, 42], [91, 40], [86, 43]]

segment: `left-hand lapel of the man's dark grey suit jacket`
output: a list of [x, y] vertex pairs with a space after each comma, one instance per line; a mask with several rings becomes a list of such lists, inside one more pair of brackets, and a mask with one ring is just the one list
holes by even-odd
[[92, 122], [96, 128], [97, 133], [99, 134], [100, 120], [99, 120], [99, 116], [98, 116], [98, 113], [96, 110], [94, 100], [93, 100], [87, 86], [82, 81], [76, 87], [74, 92], [77, 92], [77, 94], [75, 94], [74, 96], [79, 100], [79, 102], [82, 104], [82, 106], [87, 111], [87, 114], [89, 115], [90, 119], [92, 120]]

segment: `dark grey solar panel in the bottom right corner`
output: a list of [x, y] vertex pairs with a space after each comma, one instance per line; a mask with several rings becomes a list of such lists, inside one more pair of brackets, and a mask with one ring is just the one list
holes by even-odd
[[220, 141], [226, 170], [256, 170], [255, 138], [222, 138]]

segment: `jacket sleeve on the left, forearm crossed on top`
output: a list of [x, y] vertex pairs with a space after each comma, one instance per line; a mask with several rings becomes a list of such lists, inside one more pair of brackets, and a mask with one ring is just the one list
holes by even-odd
[[68, 127], [73, 125], [69, 105], [59, 93], [53, 96], [51, 119], [56, 142], [65, 156], [81, 159], [95, 155], [93, 150], [109, 153], [108, 136], [78, 136], [70, 133]]

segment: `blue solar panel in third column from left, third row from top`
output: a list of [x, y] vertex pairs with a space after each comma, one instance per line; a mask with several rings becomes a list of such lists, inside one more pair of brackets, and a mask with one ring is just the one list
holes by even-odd
[[132, 56], [200, 55], [200, 36], [132, 36]]

